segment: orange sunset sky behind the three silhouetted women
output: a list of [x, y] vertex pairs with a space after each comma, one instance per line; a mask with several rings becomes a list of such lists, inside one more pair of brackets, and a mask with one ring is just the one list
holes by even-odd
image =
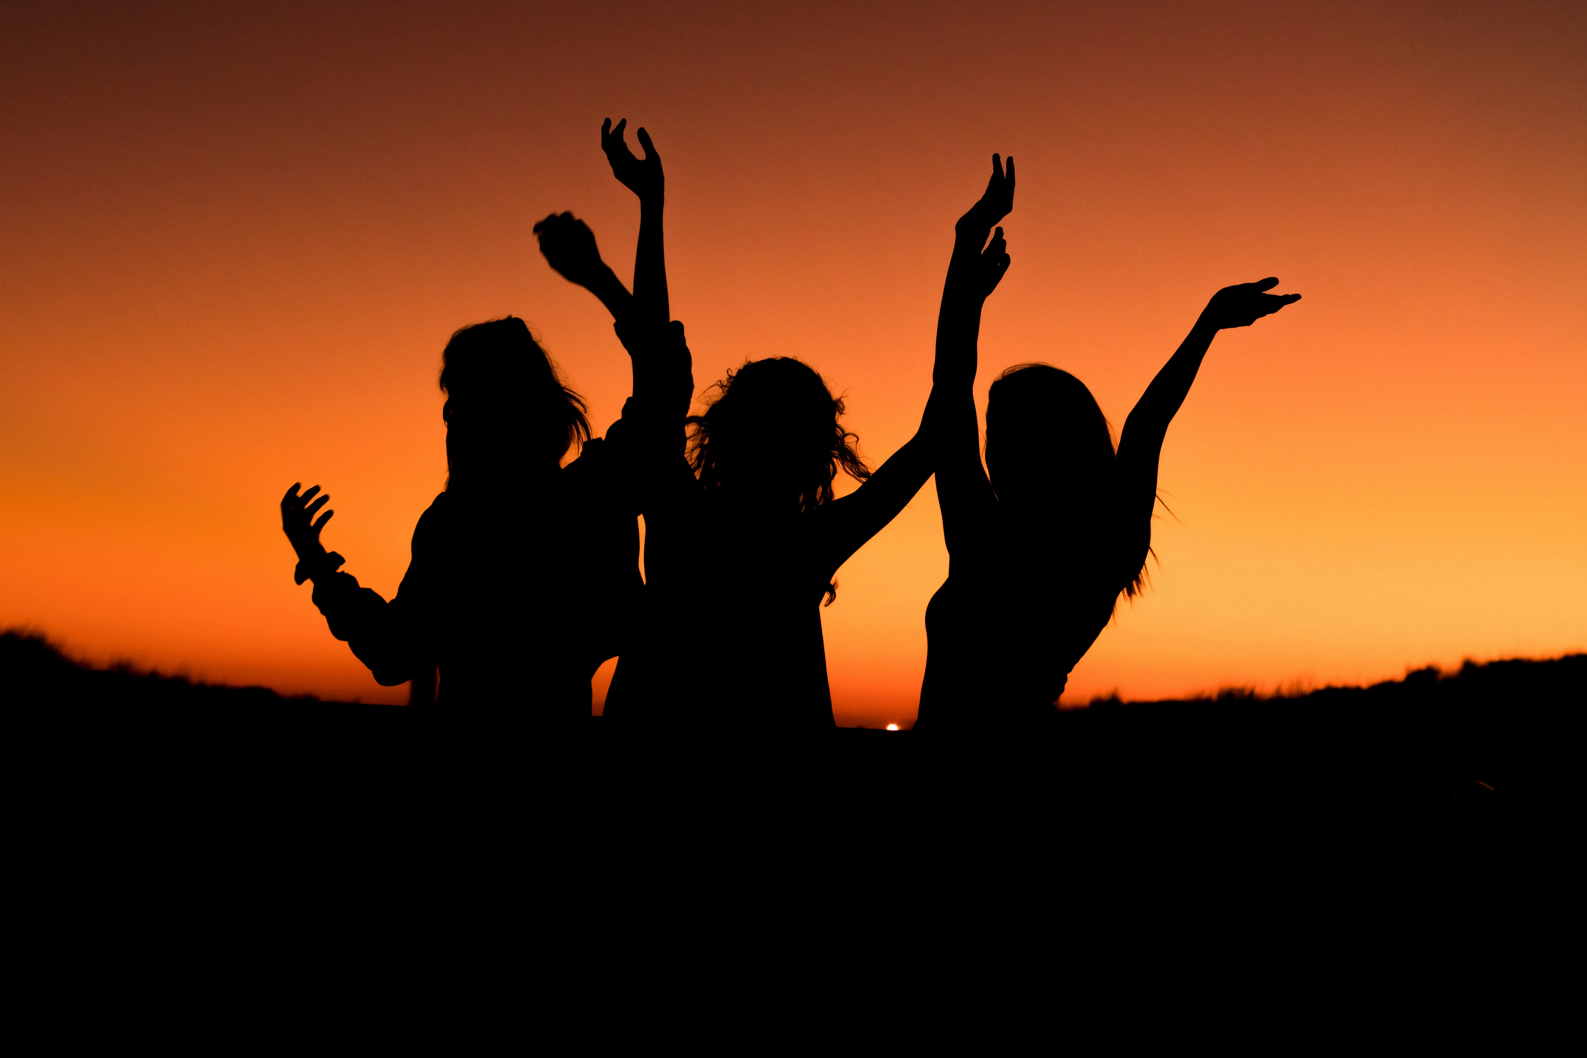
[[[697, 381], [797, 355], [873, 463], [919, 420], [993, 151], [982, 409], [1046, 360], [1117, 428], [1216, 289], [1305, 295], [1214, 343], [1162, 566], [1065, 701], [1587, 647], [1579, 2], [6, 3], [0, 625], [403, 701], [292, 584], [276, 503], [324, 484], [325, 542], [394, 592], [463, 324], [522, 316], [617, 416], [605, 311], [530, 236], [573, 209], [632, 274], [608, 116], [665, 159]], [[913, 720], [946, 569], [927, 485], [840, 571], [840, 722]]]

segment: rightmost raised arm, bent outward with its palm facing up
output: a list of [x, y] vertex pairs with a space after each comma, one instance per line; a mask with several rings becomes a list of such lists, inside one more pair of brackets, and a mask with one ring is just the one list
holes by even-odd
[[1300, 301], [1298, 293], [1268, 293], [1278, 284], [1278, 279], [1270, 278], [1239, 282], [1214, 293], [1179, 349], [1135, 403], [1119, 438], [1120, 514], [1125, 519], [1144, 517], [1149, 525], [1152, 504], [1157, 501], [1157, 463], [1163, 454], [1168, 424], [1184, 404], [1217, 332], [1225, 327], [1251, 327], [1263, 316]]

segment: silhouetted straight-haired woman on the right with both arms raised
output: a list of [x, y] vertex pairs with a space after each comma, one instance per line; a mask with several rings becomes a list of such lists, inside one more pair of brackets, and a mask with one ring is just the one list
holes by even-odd
[[[955, 260], [979, 252], [995, 222], [984, 211], [965, 214]], [[989, 252], [1006, 260], [1003, 246], [998, 228]], [[1119, 593], [1141, 587], [1163, 436], [1201, 357], [1219, 330], [1249, 327], [1300, 298], [1265, 293], [1276, 284], [1212, 295], [1130, 412], [1117, 454], [1090, 390], [1033, 363], [992, 384], [982, 470], [974, 344], [960, 346], [970, 358], [952, 366], [952, 397], [943, 397], [936, 466], [949, 574], [925, 611], [917, 731], [1030, 730], [1057, 715], [1070, 669], [1101, 634]], [[947, 385], [941, 362], [938, 385]]]

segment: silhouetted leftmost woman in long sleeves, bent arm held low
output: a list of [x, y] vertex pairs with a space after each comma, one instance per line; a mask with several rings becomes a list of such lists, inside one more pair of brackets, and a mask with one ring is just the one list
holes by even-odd
[[338, 571], [341, 557], [319, 542], [332, 512], [314, 520], [329, 500], [317, 485], [281, 500], [297, 581], [314, 581], [332, 634], [379, 684], [440, 666], [449, 712], [582, 726], [590, 676], [617, 654], [640, 590], [635, 506], [617, 460], [587, 439], [584, 401], [524, 320], [459, 330], [441, 363], [449, 476], [414, 528], [397, 595], [387, 603]]

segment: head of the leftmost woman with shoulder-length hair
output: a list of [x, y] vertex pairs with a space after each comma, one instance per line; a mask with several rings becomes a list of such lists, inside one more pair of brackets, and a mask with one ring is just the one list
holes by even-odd
[[562, 384], [516, 316], [463, 327], [441, 354], [448, 489], [511, 471], [555, 470], [590, 435], [584, 400]]

